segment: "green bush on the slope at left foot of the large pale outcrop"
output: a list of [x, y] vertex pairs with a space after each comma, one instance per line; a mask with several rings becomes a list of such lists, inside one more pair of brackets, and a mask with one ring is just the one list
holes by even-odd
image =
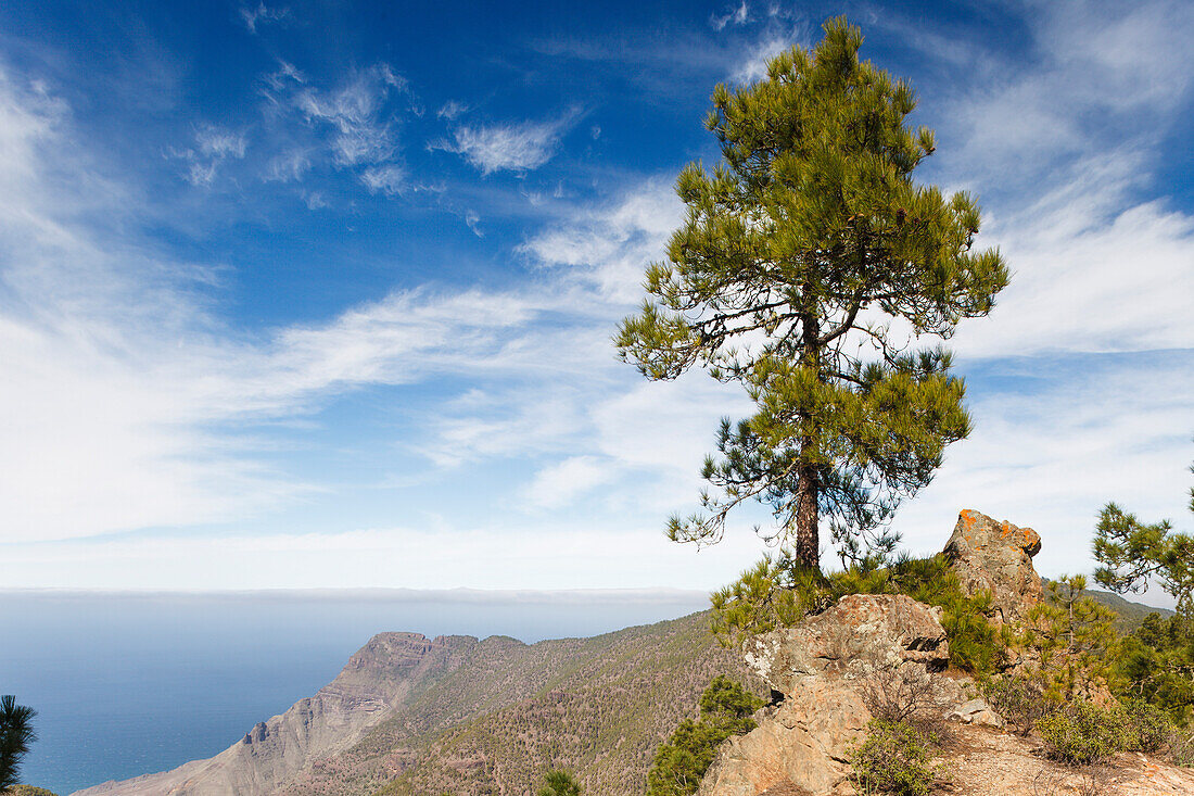
[[685, 718], [656, 752], [647, 772], [647, 796], [695, 794], [718, 747], [731, 735], [755, 729], [751, 714], [763, 700], [719, 675], [701, 694], [701, 718]]

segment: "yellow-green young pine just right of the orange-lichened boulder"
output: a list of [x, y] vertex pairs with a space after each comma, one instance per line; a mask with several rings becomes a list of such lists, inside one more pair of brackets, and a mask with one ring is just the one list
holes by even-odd
[[1085, 588], [1082, 575], [1050, 581], [1046, 599], [1028, 614], [1023, 641], [1040, 657], [1046, 696], [1055, 702], [1089, 696], [1110, 673], [1115, 613]]

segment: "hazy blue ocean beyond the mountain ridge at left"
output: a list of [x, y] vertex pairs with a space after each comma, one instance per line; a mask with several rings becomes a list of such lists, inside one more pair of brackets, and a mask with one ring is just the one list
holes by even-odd
[[0, 592], [0, 693], [38, 711], [20, 780], [60, 796], [216, 754], [330, 682], [377, 632], [592, 636], [695, 592]]

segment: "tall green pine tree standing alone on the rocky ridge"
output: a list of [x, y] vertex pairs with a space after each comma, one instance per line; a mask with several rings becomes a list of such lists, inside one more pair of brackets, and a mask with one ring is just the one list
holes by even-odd
[[[650, 379], [698, 366], [755, 402], [722, 422], [703, 512], [672, 518], [669, 535], [715, 543], [726, 514], [757, 500], [806, 567], [819, 565], [821, 521], [848, 553], [881, 538], [970, 433], [940, 342], [1008, 282], [999, 252], [974, 249], [974, 201], [912, 180], [934, 151], [931, 130], [906, 124], [912, 88], [858, 61], [857, 27], [824, 30], [767, 79], [714, 90], [707, 125], [724, 159], [681, 173], [687, 220], [616, 338]], [[937, 344], [913, 350], [925, 337]]]

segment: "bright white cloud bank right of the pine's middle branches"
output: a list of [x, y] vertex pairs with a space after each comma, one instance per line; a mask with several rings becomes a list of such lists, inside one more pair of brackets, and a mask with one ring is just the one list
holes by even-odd
[[1124, 174], [1083, 171], [992, 225], [1014, 276], [990, 318], [959, 326], [959, 353], [1194, 348], [1194, 219], [1163, 201], [1131, 204]]

